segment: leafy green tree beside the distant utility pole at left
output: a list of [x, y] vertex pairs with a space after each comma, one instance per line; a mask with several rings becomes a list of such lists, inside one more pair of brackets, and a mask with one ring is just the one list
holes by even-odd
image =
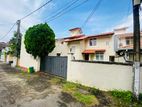
[[20, 50], [21, 50], [21, 37], [22, 34], [20, 34], [19, 39], [17, 40], [17, 32], [14, 32], [14, 36], [9, 41], [9, 51], [8, 54], [11, 54], [16, 57], [20, 57]]

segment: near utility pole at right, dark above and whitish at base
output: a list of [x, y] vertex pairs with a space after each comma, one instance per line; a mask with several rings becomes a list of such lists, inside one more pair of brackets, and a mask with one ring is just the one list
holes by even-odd
[[134, 70], [134, 95], [139, 99], [140, 92], [140, 22], [139, 9], [141, 0], [133, 0], [133, 23], [134, 23], [134, 39], [133, 39], [133, 70]]

